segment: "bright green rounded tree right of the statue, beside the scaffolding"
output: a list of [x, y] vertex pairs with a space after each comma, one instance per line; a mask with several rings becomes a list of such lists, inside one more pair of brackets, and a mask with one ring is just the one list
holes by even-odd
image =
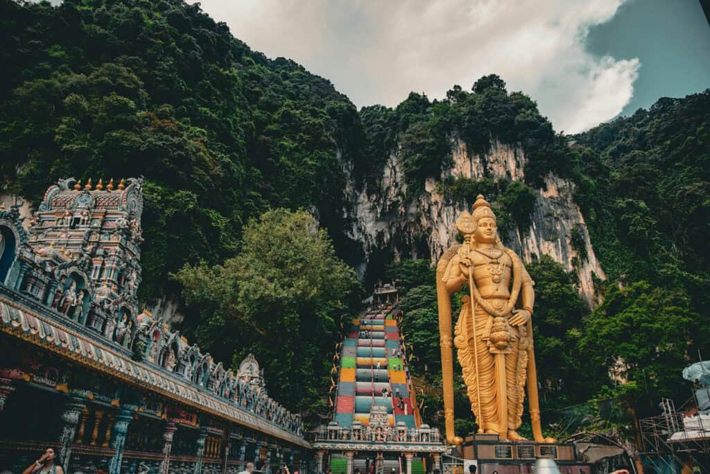
[[696, 360], [708, 330], [690, 309], [687, 292], [638, 281], [610, 285], [603, 303], [589, 316], [580, 350], [586, 371], [623, 382], [618, 391], [640, 415], [655, 414], [660, 397], [685, 400], [680, 370]]

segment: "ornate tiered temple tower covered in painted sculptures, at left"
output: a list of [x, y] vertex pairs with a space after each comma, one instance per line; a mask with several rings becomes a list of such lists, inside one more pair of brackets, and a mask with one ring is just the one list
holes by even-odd
[[[18, 289], [107, 338], [138, 316], [143, 178], [95, 187], [73, 179], [51, 186], [35, 212], [28, 244], [38, 268], [20, 264]], [[127, 339], [127, 338], [126, 338]], [[126, 340], [126, 343], [128, 341]]]

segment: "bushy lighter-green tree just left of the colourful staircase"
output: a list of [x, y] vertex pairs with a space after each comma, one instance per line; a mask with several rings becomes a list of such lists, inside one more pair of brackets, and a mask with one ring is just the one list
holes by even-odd
[[197, 340], [217, 360], [252, 352], [269, 393], [297, 411], [322, 409], [342, 316], [356, 308], [354, 271], [307, 212], [271, 210], [244, 227], [241, 252], [175, 275], [200, 317]]

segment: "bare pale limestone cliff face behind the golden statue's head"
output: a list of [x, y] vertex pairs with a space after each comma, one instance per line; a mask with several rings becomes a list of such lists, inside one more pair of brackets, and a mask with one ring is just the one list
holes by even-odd
[[[472, 179], [506, 178], [523, 181], [525, 178], [525, 153], [519, 146], [509, 146], [494, 141], [491, 150], [484, 156], [469, 153], [466, 144], [459, 139], [452, 141], [453, 166], [442, 173], [442, 180], [449, 176]], [[545, 178], [545, 189], [537, 190], [532, 212], [532, 225], [520, 232], [515, 229], [506, 246], [512, 248], [530, 262], [547, 254], [562, 264], [567, 271], [575, 271], [579, 277], [579, 292], [593, 306], [594, 276], [606, 276], [594, 255], [584, 217], [572, 200], [574, 185], [555, 175]], [[415, 200], [405, 200], [406, 184], [393, 153], [383, 166], [382, 177], [376, 189], [354, 191], [354, 225], [351, 237], [362, 243], [367, 257], [379, 249], [387, 248], [398, 257], [430, 257], [434, 262], [447, 247], [455, 242], [455, 221], [465, 210], [462, 203], [447, 203], [437, 193], [434, 180], [425, 183], [425, 193]], [[586, 258], [572, 244], [576, 230], [577, 242], [583, 242]], [[426, 245], [422, 245], [425, 242]], [[579, 247], [579, 243], [577, 244]], [[422, 254], [428, 252], [428, 255]], [[577, 258], [575, 258], [577, 257]], [[362, 274], [364, 266], [359, 268]]]

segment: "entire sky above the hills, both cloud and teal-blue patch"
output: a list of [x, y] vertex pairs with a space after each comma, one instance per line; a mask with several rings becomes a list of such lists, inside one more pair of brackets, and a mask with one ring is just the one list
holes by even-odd
[[698, 0], [201, 0], [237, 38], [358, 107], [431, 99], [495, 72], [557, 131], [710, 87]]

